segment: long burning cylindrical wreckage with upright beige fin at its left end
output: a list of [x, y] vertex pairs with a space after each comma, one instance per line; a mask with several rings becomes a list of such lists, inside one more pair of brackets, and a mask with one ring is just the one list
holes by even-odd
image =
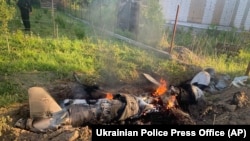
[[[81, 84], [75, 74], [74, 77]], [[168, 88], [164, 79], [157, 84], [156, 90], [146, 97], [140, 94], [113, 94], [98, 86], [81, 84], [83, 92], [78, 91], [77, 97], [81, 97], [81, 93], [84, 99], [64, 99], [60, 105], [45, 89], [31, 87], [28, 90], [31, 116], [27, 120], [18, 120], [15, 125], [34, 132], [48, 132], [64, 125], [195, 124], [188, 112], [183, 110], [196, 100], [192, 87]]]

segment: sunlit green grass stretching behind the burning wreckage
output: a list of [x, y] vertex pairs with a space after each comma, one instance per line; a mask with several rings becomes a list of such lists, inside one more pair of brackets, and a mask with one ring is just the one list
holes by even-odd
[[[178, 83], [195, 73], [176, 61], [159, 56], [158, 53], [116, 39], [101, 38], [92, 27], [60, 12], [56, 13], [56, 22], [58, 32], [55, 36], [50, 11], [35, 9], [32, 13], [31, 34], [23, 33], [20, 30], [22, 25], [14, 19], [10, 23], [8, 41], [5, 35], [0, 36], [0, 107], [27, 100], [27, 87], [23, 86], [26, 78], [23, 73], [49, 72], [53, 77], [46, 73], [38, 80], [43, 78], [43, 81], [52, 82], [69, 78], [73, 71], [77, 71], [84, 74], [88, 83], [107, 84], [111, 81], [137, 81], [141, 72], [153, 72], [167, 78], [170, 83]], [[245, 73], [250, 60], [248, 43], [244, 43], [244, 48], [238, 56], [227, 59], [223, 55], [215, 56], [213, 45], [218, 39], [227, 41], [231, 36], [222, 33], [214, 37], [212, 33], [202, 33], [203, 36], [191, 38], [190, 34], [191, 32], [182, 31], [177, 33], [176, 38], [176, 45], [187, 46], [204, 58], [204, 61], [190, 62], [190, 65], [201, 68], [213, 66], [217, 72], [232, 77]], [[237, 39], [232, 42], [240, 43]], [[18, 76], [22, 76], [23, 81], [15, 81]], [[42, 84], [29, 84], [32, 85]]]

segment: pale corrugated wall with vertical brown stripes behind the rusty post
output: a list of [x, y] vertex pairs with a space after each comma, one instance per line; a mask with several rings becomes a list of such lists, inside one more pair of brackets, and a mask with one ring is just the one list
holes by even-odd
[[160, 0], [167, 23], [208, 28], [215, 25], [228, 29], [250, 30], [250, 0]]

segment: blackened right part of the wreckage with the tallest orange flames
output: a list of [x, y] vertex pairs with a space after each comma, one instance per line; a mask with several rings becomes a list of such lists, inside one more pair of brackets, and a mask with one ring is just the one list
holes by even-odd
[[[182, 110], [183, 106], [188, 105], [179, 105], [182, 101], [178, 100], [182, 100], [181, 97], [184, 91], [176, 91], [173, 86], [170, 86], [170, 89], [168, 89], [166, 80], [161, 79], [160, 82], [157, 82], [150, 78], [148, 74], [146, 76], [150, 81], [158, 85], [151, 95], [154, 98], [153, 104], [158, 107], [158, 112], [147, 115], [149, 116], [147, 120], [150, 120], [150, 124], [195, 124], [190, 115]], [[190, 102], [189, 99], [187, 99], [187, 103]]]

